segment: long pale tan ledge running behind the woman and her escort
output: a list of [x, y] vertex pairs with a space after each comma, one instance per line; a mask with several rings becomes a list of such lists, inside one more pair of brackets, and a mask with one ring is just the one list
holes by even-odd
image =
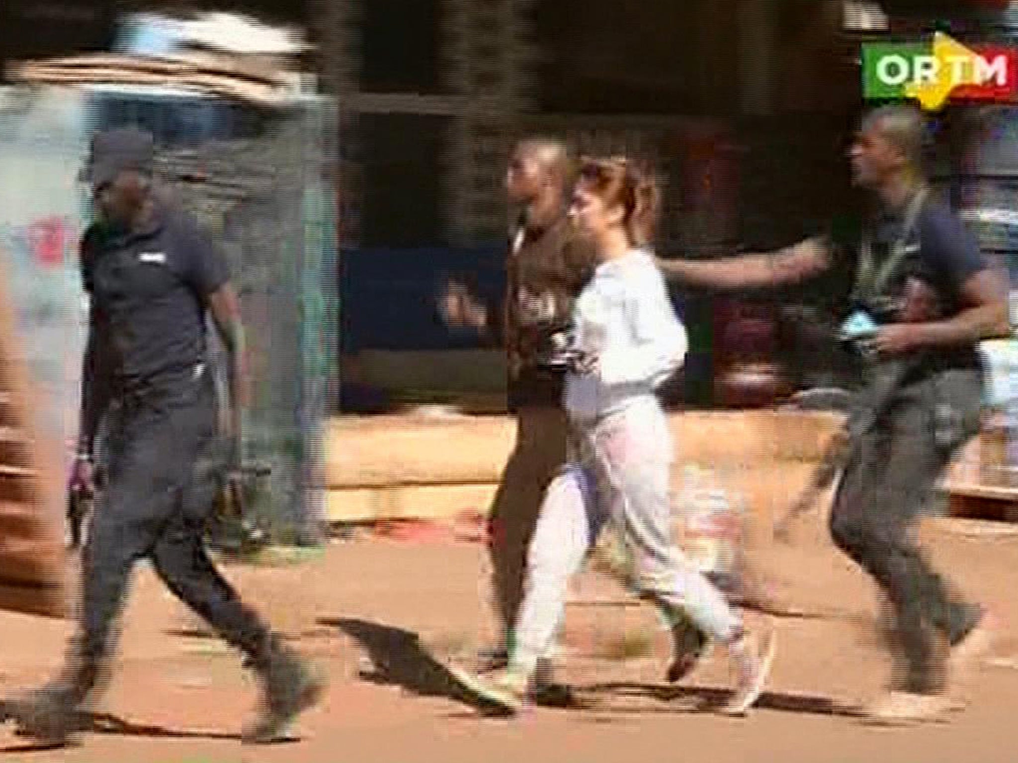
[[[679, 459], [715, 470], [770, 522], [803, 489], [841, 419], [781, 411], [670, 416]], [[328, 441], [333, 522], [451, 519], [486, 513], [515, 441], [508, 416], [340, 417]]]

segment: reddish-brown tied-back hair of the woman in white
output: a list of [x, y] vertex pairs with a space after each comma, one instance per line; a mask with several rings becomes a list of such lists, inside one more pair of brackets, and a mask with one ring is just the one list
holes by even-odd
[[622, 207], [622, 224], [634, 246], [645, 246], [653, 240], [661, 192], [651, 172], [625, 157], [584, 158], [577, 183], [607, 206]]

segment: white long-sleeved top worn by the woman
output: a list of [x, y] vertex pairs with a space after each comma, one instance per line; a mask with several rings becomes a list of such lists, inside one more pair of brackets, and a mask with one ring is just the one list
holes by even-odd
[[632, 249], [601, 263], [573, 311], [576, 347], [599, 358], [589, 374], [566, 374], [570, 418], [589, 422], [634, 404], [657, 405], [655, 390], [681, 365], [686, 330], [672, 309], [651, 253]]

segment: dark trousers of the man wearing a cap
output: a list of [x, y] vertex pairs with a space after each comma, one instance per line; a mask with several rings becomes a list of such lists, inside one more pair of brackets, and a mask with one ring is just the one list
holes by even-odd
[[143, 557], [228, 643], [258, 655], [268, 631], [203, 542], [217, 489], [212, 475], [195, 471], [216, 441], [211, 379], [188, 372], [122, 403], [109, 433], [107, 486], [84, 549], [75, 656], [90, 676], [108, 656], [129, 575]]

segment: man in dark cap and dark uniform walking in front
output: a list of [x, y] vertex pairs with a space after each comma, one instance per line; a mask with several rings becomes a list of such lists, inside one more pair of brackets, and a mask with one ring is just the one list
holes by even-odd
[[97, 428], [116, 408], [108, 422], [107, 479], [82, 557], [80, 622], [66, 664], [6, 710], [22, 732], [48, 743], [63, 744], [80, 729], [80, 710], [109, 664], [128, 578], [148, 557], [177, 597], [246, 655], [262, 679], [264, 707], [243, 739], [272, 742], [324, 684], [241, 602], [207, 554], [215, 488], [194, 477], [199, 455], [216, 436], [207, 311], [230, 357], [231, 442], [238, 442], [246, 395], [243, 335], [225, 261], [189, 218], [156, 200], [152, 172], [150, 134], [119, 129], [93, 140], [83, 176], [97, 222], [81, 241], [91, 308], [71, 482], [90, 486]]

